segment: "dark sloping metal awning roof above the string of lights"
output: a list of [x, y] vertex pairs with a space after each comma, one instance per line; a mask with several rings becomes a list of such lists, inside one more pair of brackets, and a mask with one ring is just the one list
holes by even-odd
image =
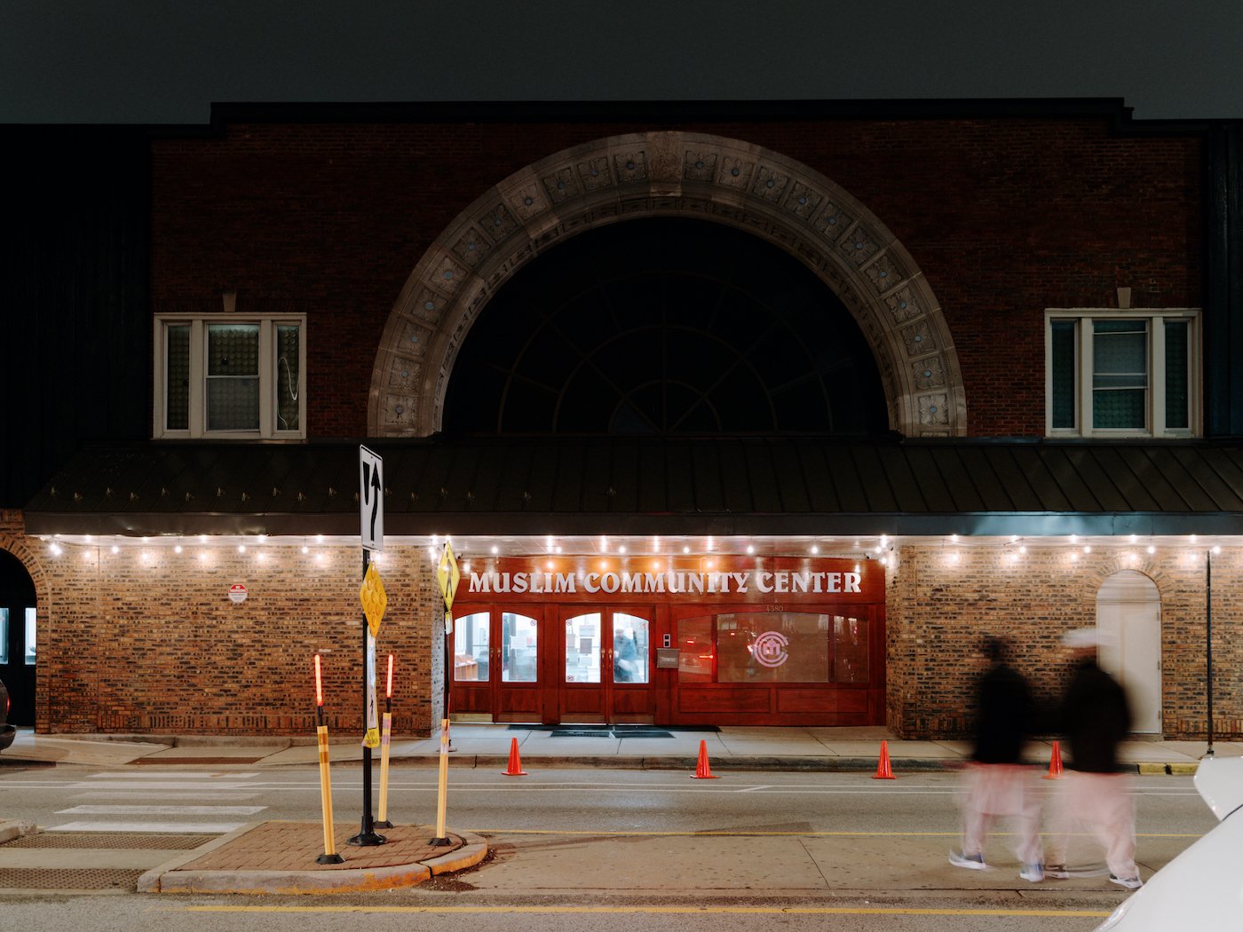
[[[1243, 446], [817, 437], [368, 440], [385, 533], [1243, 534]], [[31, 534], [355, 534], [358, 442], [81, 451]]]

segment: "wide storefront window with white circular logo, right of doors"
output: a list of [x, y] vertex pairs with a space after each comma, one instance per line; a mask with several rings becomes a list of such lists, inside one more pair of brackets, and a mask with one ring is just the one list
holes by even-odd
[[682, 619], [677, 623], [677, 680], [865, 683], [868, 634], [866, 619], [804, 611]]

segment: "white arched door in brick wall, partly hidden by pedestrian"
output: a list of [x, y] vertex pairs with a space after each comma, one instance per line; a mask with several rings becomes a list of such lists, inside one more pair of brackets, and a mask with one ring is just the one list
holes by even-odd
[[1100, 666], [1122, 683], [1131, 729], [1161, 733], [1161, 594], [1142, 573], [1124, 569], [1096, 593], [1096, 626], [1104, 635]]

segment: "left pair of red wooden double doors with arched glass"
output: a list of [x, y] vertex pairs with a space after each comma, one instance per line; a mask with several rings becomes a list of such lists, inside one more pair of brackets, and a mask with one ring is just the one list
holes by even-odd
[[493, 722], [543, 721], [543, 609], [472, 606], [454, 620], [451, 712]]

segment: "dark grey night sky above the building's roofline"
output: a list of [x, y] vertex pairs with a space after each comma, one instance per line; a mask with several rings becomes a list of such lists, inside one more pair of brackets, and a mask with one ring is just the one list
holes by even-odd
[[1243, 118], [1243, 2], [0, 0], [0, 122], [213, 102], [1120, 97]]

